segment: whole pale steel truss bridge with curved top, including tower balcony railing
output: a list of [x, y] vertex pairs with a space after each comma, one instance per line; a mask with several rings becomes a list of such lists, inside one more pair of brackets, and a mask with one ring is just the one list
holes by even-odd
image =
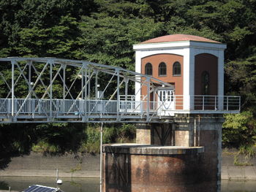
[[[0, 69], [0, 123], [145, 123], [167, 120], [177, 113], [222, 114], [240, 110], [239, 96], [174, 94], [159, 99], [157, 90], [173, 89], [173, 85], [89, 61], [0, 58]], [[135, 83], [140, 84], [136, 93]], [[142, 89], [146, 90], [144, 96], [140, 96]], [[138, 96], [141, 99], [136, 100]], [[193, 100], [194, 109], [182, 110], [185, 97]], [[217, 107], [220, 101], [222, 109]]]

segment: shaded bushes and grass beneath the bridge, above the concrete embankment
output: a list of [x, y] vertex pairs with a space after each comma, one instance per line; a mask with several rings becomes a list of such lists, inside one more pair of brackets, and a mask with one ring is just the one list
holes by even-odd
[[[18, 124], [0, 127], [0, 156], [29, 153], [99, 153], [99, 124], [42, 123], [18, 127]], [[105, 125], [103, 144], [132, 142], [135, 126]]]

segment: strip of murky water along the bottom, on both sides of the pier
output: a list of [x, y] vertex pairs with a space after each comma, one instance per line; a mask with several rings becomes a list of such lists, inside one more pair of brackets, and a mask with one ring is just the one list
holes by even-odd
[[[99, 191], [98, 178], [61, 178], [61, 189], [66, 192], [95, 192]], [[55, 178], [51, 177], [0, 177], [0, 190], [11, 186], [14, 191], [22, 191], [29, 185], [47, 185], [56, 187]], [[222, 180], [222, 192], [256, 192], [256, 181]]]

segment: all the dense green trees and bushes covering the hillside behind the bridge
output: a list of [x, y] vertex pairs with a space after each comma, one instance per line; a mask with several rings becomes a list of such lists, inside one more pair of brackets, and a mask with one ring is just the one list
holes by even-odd
[[[243, 112], [225, 115], [223, 142], [255, 145], [255, 10], [256, 0], [0, 0], [0, 57], [83, 59], [135, 70], [132, 45], [146, 39], [192, 34], [224, 42], [225, 94], [241, 95]], [[0, 66], [3, 74], [10, 74], [8, 70]], [[2, 79], [0, 86], [4, 98]], [[21, 84], [16, 91], [22, 96]], [[97, 126], [1, 125], [0, 154], [92, 151], [99, 138]], [[105, 142], [115, 142], [120, 134], [132, 138], [120, 127], [127, 128], [111, 125]]]

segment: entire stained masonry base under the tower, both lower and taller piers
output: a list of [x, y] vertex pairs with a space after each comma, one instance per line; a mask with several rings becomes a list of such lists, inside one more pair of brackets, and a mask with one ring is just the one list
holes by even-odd
[[105, 145], [104, 191], [220, 191], [222, 122], [138, 124], [136, 144]]

